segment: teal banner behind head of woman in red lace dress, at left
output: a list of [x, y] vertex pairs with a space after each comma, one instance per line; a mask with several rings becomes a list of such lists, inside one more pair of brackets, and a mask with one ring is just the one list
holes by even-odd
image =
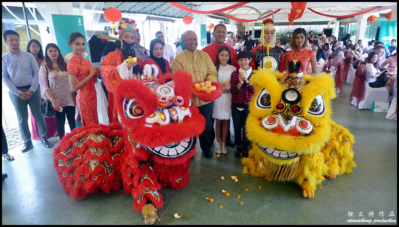
[[[69, 35], [73, 32], [80, 32], [84, 37], [86, 37], [83, 16], [52, 14], [52, 19], [57, 45], [61, 50], [61, 53], [64, 55], [64, 59], [69, 61], [72, 57], [72, 48], [68, 45]], [[86, 40], [86, 50], [83, 57], [91, 60], [88, 48]]]

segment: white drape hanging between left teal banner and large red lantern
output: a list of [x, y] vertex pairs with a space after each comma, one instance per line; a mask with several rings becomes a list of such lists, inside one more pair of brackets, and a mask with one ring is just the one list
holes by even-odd
[[[80, 2], [78, 15], [83, 15], [86, 40], [89, 41], [96, 29], [92, 29], [93, 24], [98, 24], [101, 14], [103, 14], [103, 2]], [[102, 13], [99, 13], [101, 11]]]

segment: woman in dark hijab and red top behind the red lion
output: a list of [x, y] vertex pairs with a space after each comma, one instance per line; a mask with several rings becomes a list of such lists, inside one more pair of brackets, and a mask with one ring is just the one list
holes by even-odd
[[156, 65], [158, 67], [158, 76], [160, 78], [165, 73], [171, 73], [171, 67], [169, 66], [168, 60], [164, 59], [164, 44], [160, 39], [153, 39], [150, 43], [150, 57], [144, 60], [143, 70], [147, 64]]

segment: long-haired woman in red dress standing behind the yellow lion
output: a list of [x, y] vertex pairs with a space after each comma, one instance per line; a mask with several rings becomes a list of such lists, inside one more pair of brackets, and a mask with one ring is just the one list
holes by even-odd
[[291, 48], [292, 51], [287, 52], [285, 58], [285, 67], [288, 69], [288, 63], [292, 60], [297, 60], [302, 63], [301, 70], [304, 74], [309, 73], [309, 63], [312, 63], [312, 73], [315, 75], [317, 72], [316, 54], [313, 50], [308, 50], [305, 47], [308, 45], [305, 29], [298, 27], [291, 35]]

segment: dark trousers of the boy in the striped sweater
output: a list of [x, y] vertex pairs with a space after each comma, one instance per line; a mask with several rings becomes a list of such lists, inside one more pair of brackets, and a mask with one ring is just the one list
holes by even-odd
[[241, 107], [244, 110], [239, 111], [237, 107], [239, 107], [237, 104], [231, 104], [231, 117], [233, 118], [234, 126], [234, 145], [248, 147], [249, 141], [246, 138], [245, 123], [246, 117], [249, 114], [249, 109], [248, 107]]

